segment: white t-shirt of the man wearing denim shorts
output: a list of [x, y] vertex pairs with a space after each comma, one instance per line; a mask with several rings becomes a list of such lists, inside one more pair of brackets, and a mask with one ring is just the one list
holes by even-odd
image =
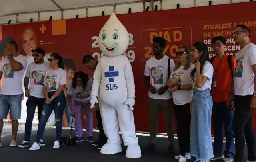
[[0, 94], [4, 95], [19, 95], [23, 94], [23, 75], [27, 67], [27, 61], [23, 56], [18, 55], [13, 58], [15, 61], [23, 65], [20, 71], [14, 71], [10, 65], [9, 59], [6, 57], [0, 63], [0, 71], [2, 75], [2, 90]]

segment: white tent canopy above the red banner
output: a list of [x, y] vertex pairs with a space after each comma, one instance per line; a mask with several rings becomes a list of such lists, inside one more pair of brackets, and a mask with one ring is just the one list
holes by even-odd
[[[212, 5], [248, 2], [250, 0], [212, 0]], [[47, 21], [126, 14], [131, 12], [176, 9], [196, 6], [208, 6], [209, 0], [0, 0], [0, 24], [26, 23], [32, 21]]]

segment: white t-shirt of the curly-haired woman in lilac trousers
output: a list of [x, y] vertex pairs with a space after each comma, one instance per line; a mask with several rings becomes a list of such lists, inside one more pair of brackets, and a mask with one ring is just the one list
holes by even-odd
[[78, 102], [88, 102], [91, 98], [92, 81], [92, 78], [88, 79], [85, 89], [82, 86], [76, 86], [74, 89], [72, 82], [70, 82], [70, 84], [68, 84], [68, 95], [73, 96]]

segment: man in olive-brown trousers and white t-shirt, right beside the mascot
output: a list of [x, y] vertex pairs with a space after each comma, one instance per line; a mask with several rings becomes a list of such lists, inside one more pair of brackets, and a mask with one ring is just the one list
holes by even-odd
[[174, 157], [174, 123], [172, 96], [166, 85], [169, 73], [175, 68], [173, 59], [163, 54], [166, 40], [163, 37], [153, 38], [153, 57], [146, 61], [144, 83], [148, 87], [148, 117], [150, 122], [150, 143], [146, 151], [155, 150], [156, 135], [158, 131], [158, 119], [160, 110], [164, 115], [166, 131], [169, 140], [169, 154]]

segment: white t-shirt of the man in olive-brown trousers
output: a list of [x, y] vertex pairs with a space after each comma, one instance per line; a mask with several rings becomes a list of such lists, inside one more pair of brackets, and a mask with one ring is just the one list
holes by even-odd
[[[152, 94], [148, 91], [148, 96], [152, 99], [163, 99], [168, 100], [172, 98], [170, 91], [166, 90], [164, 94], [159, 95], [157, 91], [159, 88], [166, 86], [169, 79], [168, 77], [168, 59], [169, 57], [164, 55], [160, 60], [157, 60], [155, 56], [151, 57], [146, 61], [145, 65], [145, 76], [150, 76], [150, 84], [156, 88], [156, 93]], [[173, 59], [170, 59], [170, 73], [175, 68]]]

